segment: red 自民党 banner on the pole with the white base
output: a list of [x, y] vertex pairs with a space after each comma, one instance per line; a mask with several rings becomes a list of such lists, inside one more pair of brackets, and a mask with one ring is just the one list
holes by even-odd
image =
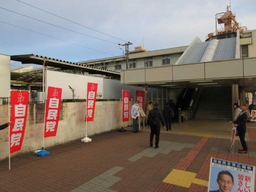
[[98, 83], [87, 83], [86, 117], [84, 121], [93, 121]]

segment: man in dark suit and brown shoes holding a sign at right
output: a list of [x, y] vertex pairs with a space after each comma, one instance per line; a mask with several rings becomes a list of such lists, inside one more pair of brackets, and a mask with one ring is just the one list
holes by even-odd
[[247, 115], [246, 115], [246, 107], [241, 106], [239, 110], [240, 114], [237, 117], [236, 121], [230, 121], [230, 123], [234, 123], [234, 126], [237, 127], [237, 133], [239, 135], [239, 139], [242, 144], [242, 149], [239, 149], [239, 153], [248, 153], [248, 148], [247, 144], [245, 142], [245, 133], [246, 133], [246, 120], [247, 120]]

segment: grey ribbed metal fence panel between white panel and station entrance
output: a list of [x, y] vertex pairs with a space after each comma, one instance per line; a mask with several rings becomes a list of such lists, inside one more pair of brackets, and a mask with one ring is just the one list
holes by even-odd
[[130, 91], [129, 97], [132, 99], [134, 87], [121, 85], [119, 80], [103, 79], [103, 99], [122, 99], [122, 89]]

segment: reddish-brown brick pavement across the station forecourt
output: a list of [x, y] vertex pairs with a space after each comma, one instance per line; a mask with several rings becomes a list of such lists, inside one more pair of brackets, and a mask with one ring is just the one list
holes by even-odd
[[[248, 126], [248, 125], [247, 125]], [[248, 128], [250, 133], [252, 128]], [[228, 148], [229, 139], [208, 138], [188, 134], [161, 133], [160, 141], [194, 144], [195, 147], [158, 153], [137, 161], [127, 159], [149, 147], [150, 132], [107, 132], [92, 136], [92, 141], [78, 141], [47, 148], [49, 156], [32, 153], [0, 161], [0, 191], [71, 191], [114, 166], [123, 167], [114, 176], [120, 177], [109, 189], [116, 191], [207, 191], [207, 187], [192, 184], [190, 188], [163, 183], [174, 169], [183, 166], [197, 173], [196, 178], [208, 180], [210, 157], [256, 165], [256, 157], [211, 151], [211, 147]], [[250, 136], [250, 134], [249, 134]], [[235, 143], [237, 150], [240, 142]], [[255, 141], [248, 142], [255, 152]], [[161, 145], [160, 148], [161, 149]], [[158, 150], [158, 149], [155, 149]], [[160, 190], [161, 189], [161, 190]]]

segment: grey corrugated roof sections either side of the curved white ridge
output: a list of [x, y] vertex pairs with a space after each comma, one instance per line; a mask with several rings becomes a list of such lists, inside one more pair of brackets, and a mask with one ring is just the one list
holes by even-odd
[[[179, 64], [200, 62], [210, 41], [193, 44]], [[219, 39], [212, 61], [235, 59], [236, 57], [236, 37]]]

